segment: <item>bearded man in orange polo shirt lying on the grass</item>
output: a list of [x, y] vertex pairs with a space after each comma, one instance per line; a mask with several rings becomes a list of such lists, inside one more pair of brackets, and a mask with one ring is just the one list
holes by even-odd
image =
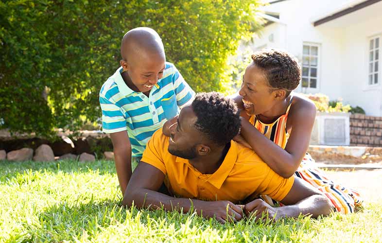
[[[243, 212], [275, 219], [330, 213], [320, 191], [295, 176], [279, 176], [252, 149], [231, 140], [239, 129], [232, 100], [216, 92], [198, 94], [170, 127], [170, 138], [159, 129], [148, 142], [123, 205], [134, 201], [138, 208], [195, 209], [222, 223], [243, 219]], [[175, 197], [158, 192], [163, 182]], [[256, 199], [259, 195], [287, 206], [272, 207]]]

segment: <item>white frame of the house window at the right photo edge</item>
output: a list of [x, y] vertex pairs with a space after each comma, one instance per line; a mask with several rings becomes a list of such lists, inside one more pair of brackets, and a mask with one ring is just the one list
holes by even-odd
[[[376, 48], [376, 40], [378, 40], [378, 47]], [[370, 42], [373, 41], [373, 48], [370, 48]], [[372, 37], [369, 37], [367, 39], [367, 76], [366, 76], [366, 84], [367, 87], [376, 87], [380, 86], [382, 83], [382, 77], [381, 77], [381, 44], [382, 44], [382, 36], [381, 35], [374, 35]], [[376, 59], [376, 53], [378, 52], [378, 59]], [[371, 53], [373, 53], [372, 60]], [[377, 65], [376, 65], [377, 63]], [[370, 71], [370, 65], [372, 70]], [[377, 71], [376, 67], [378, 68]], [[375, 82], [375, 75], [377, 74], [377, 83]], [[371, 80], [370, 80], [371, 76]], [[370, 83], [371, 82], [371, 83]]]

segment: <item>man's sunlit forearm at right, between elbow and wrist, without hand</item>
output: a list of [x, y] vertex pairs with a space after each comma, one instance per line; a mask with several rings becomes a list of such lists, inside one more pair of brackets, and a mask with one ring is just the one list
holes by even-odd
[[313, 195], [305, 198], [295, 205], [277, 208], [277, 214], [281, 217], [298, 217], [302, 215], [312, 215], [317, 218], [321, 215], [330, 214], [330, 203], [323, 195]]

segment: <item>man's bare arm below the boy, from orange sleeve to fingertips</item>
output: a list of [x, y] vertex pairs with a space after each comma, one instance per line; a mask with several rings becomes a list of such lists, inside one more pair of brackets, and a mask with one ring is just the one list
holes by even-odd
[[[188, 212], [195, 209], [198, 215], [206, 218], [214, 216], [221, 223], [227, 219], [239, 221], [242, 219], [242, 209], [228, 201], [205, 202], [189, 198], [174, 198], [163, 193], [157, 192], [164, 180], [164, 174], [143, 161], [139, 162], [123, 197], [123, 205], [134, 206], [137, 208], [150, 208], [179, 212]], [[227, 217], [227, 215], [230, 215]]]

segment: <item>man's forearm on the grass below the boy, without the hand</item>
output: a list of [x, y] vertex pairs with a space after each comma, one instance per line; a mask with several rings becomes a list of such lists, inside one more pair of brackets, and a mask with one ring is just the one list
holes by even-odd
[[158, 209], [163, 207], [167, 211], [179, 212], [188, 212], [190, 209], [196, 209], [198, 215], [201, 215], [203, 205], [206, 203], [196, 199], [175, 198], [148, 189], [126, 192], [123, 198], [123, 205], [130, 207], [133, 201], [137, 208], [148, 208], [150, 206], [152, 209]]

